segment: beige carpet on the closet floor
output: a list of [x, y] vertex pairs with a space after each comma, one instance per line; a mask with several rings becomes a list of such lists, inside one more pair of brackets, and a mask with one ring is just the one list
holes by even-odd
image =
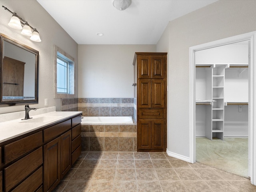
[[196, 138], [196, 161], [248, 178], [248, 138]]

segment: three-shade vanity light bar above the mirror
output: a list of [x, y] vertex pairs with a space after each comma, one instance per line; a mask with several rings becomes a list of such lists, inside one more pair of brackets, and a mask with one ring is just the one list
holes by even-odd
[[[21, 30], [21, 34], [25, 36], [30, 36], [30, 40], [35, 42], [41, 42], [40, 36], [36, 28], [33, 28], [31, 25], [28, 24], [27, 21], [23, 20], [20, 16], [16, 13], [10, 11], [7, 7], [2, 6], [5, 10], [12, 14], [12, 18], [8, 23], [8, 26], [14, 29]], [[22, 27], [23, 26], [23, 27]], [[33, 30], [33, 32], [32, 32]]]

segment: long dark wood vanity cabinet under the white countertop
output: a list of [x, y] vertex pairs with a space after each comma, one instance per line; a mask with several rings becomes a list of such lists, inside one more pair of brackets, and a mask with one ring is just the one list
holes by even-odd
[[1, 143], [0, 192], [53, 191], [81, 154], [79, 138], [81, 115]]

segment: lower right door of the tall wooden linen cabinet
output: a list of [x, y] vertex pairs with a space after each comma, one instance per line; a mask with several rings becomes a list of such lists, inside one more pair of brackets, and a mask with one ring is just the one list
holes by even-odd
[[164, 148], [164, 121], [152, 121], [152, 148]]

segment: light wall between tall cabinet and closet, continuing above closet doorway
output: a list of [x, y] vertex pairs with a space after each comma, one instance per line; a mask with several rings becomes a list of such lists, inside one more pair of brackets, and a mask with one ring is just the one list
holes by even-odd
[[256, 1], [218, 1], [169, 22], [167, 150], [189, 159], [189, 47], [256, 30]]

